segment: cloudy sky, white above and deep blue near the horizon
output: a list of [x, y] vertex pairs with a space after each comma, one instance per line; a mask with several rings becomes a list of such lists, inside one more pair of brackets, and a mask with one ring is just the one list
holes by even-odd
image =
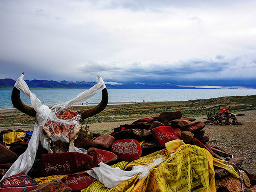
[[256, 1], [0, 0], [0, 79], [250, 87]]

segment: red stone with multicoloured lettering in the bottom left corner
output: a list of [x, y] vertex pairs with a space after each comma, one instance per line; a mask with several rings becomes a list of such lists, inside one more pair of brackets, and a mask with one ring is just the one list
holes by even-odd
[[12, 175], [0, 184], [1, 192], [29, 192], [37, 188], [39, 184], [28, 175]]

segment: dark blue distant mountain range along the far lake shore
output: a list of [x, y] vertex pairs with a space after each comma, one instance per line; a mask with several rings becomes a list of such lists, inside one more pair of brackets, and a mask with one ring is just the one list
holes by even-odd
[[[48, 80], [25, 80], [30, 89], [89, 89], [95, 82], [87, 81], [48, 81]], [[12, 89], [15, 84], [13, 79], [0, 79], [0, 89]], [[196, 87], [182, 87], [169, 84], [109, 84], [108, 89], [198, 89]]]

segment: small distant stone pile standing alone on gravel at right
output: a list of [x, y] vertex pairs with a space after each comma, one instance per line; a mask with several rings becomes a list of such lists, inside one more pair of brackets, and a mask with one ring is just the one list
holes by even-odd
[[218, 112], [204, 122], [206, 125], [242, 125], [237, 116], [230, 112]]

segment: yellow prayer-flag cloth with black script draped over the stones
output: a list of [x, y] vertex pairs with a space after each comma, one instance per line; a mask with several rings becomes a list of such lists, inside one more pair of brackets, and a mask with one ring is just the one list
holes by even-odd
[[130, 170], [133, 166], [148, 166], [158, 158], [162, 158], [163, 162], [152, 167], [148, 175], [141, 179], [138, 174], [112, 189], [96, 181], [81, 192], [214, 192], [216, 189], [213, 165], [224, 165], [231, 174], [237, 174], [230, 168], [232, 166], [221, 164], [206, 149], [186, 145], [181, 140], [168, 142], [166, 149], [127, 163], [125, 170]]

